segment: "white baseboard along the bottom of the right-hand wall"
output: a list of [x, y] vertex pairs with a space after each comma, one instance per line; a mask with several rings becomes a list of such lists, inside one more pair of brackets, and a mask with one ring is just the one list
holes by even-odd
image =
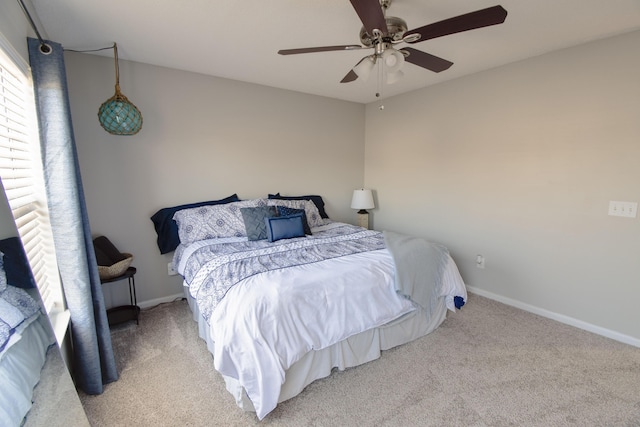
[[467, 286], [467, 290], [476, 295], [480, 295], [482, 297], [489, 298], [494, 301], [498, 301], [503, 304], [510, 305], [512, 307], [516, 307], [521, 310], [528, 311], [530, 313], [534, 313], [542, 317], [546, 317], [548, 319], [556, 320], [566, 325], [571, 325], [579, 329], [584, 329], [585, 331], [593, 332], [594, 334], [602, 335], [604, 337], [611, 338], [613, 340], [620, 341], [625, 344], [632, 345], [634, 347], [640, 347], [640, 339], [631, 337], [629, 335], [624, 335], [619, 332], [612, 331], [610, 329], [592, 325], [591, 323], [583, 322], [582, 320], [574, 319], [572, 317], [565, 316], [564, 314], [554, 313], [552, 311], [545, 310], [540, 307], [525, 304], [522, 301], [507, 298], [502, 295], [494, 294], [493, 292], [485, 291], [483, 289], [479, 289], [473, 286]]

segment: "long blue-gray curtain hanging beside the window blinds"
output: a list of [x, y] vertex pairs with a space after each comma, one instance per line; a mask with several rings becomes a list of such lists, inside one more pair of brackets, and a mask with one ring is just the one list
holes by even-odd
[[71, 313], [74, 377], [85, 393], [100, 394], [118, 372], [80, 178], [64, 52], [58, 43], [47, 41], [46, 54], [39, 40], [28, 43], [49, 214]]

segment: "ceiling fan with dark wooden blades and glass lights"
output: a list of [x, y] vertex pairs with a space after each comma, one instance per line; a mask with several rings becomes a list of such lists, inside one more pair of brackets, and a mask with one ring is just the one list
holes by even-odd
[[335, 50], [374, 49], [374, 53], [362, 58], [340, 83], [352, 82], [358, 77], [366, 78], [378, 60], [384, 61], [386, 66], [387, 83], [394, 83], [402, 76], [400, 68], [405, 60], [436, 73], [453, 65], [453, 62], [435, 55], [411, 47], [396, 49], [395, 45], [399, 43], [414, 44], [449, 34], [502, 24], [507, 17], [507, 11], [502, 6], [493, 6], [407, 31], [407, 23], [403, 19], [386, 16], [386, 11], [391, 6], [392, 0], [350, 1], [363, 24], [360, 30], [362, 45], [283, 49], [278, 53], [280, 55], [295, 55]]

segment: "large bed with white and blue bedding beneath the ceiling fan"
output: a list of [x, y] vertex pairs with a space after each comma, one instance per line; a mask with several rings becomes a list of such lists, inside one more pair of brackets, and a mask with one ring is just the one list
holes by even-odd
[[173, 267], [200, 337], [258, 419], [334, 368], [430, 333], [467, 297], [444, 246], [332, 221], [308, 197], [173, 211]]

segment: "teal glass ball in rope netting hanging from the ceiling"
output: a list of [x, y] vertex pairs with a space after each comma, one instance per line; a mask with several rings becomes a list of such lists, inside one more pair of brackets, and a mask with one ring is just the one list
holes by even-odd
[[113, 52], [116, 62], [116, 93], [107, 99], [98, 110], [100, 124], [113, 135], [135, 135], [142, 129], [142, 114], [138, 107], [133, 105], [126, 96], [120, 92], [120, 71], [118, 69], [118, 45], [113, 44]]

